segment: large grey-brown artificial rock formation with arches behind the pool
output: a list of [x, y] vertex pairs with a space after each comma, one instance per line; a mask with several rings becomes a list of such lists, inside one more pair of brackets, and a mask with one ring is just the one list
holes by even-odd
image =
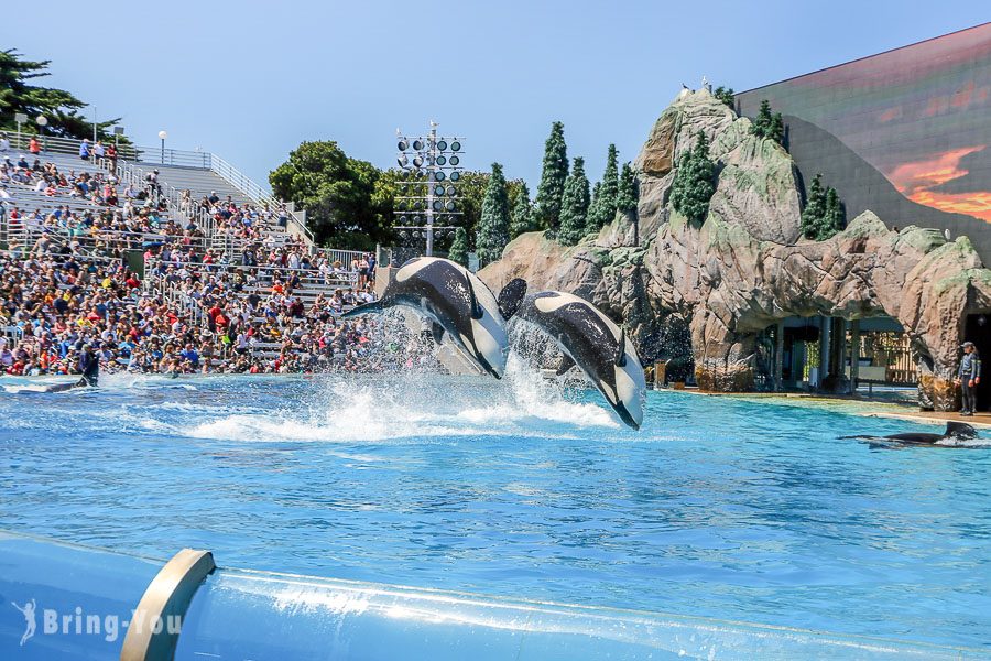
[[[719, 169], [701, 225], [668, 203], [698, 131]], [[966, 314], [991, 312], [991, 271], [966, 237], [895, 232], [865, 212], [829, 240], [803, 239], [792, 159], [706, 90], [683, 93], [664, 111], [636, 166], [640, 246], [634, 218], [618, 215], [573, 248], [523, 235], [479, 275], [496, 291], [522, 277], [592, 301], [627, 325], [645, 360], [660, 355], [666, 325], [687, 324], [699, 387], [723, 392], [753, 388], [758, 334], [781, 319], [891, 316], [918, 356], [922, 404], [952, 408]]]

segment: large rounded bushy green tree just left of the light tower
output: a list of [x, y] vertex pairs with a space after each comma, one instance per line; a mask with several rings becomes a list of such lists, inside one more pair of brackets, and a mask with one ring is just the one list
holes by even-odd
[[306, 209], [319, 243], [370, 250], [391, 239], [392, 201], [401, 173], [383, 174], [333, 141], [303, 142], [269, 174], [276, 197]]

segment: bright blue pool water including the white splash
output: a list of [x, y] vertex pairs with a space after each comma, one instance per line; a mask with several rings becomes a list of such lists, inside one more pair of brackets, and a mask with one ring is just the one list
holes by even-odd
[[[218, 563], [991, 647], [991, 452], [933, 426], [532, 375], [0, 392], [0, 528]], [[983, 433], [987, 437], [987, 432]]]

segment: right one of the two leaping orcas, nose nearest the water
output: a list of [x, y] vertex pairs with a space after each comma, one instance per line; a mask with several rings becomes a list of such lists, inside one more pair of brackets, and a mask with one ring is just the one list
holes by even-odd
[[526, 294], [526, 282], [511, 281], [499, 294], [505, 318], [530, 322], [564, 351], [557, 370], [563, 375], [577, 365], [609, 401], [624, 423], [639, 430], [643, 423], [646, 380], [636, 348], [625, 330], [595, 305], [565, 292]]

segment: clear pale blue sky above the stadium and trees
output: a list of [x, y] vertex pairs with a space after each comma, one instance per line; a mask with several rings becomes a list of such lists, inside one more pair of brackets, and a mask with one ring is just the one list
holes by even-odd
[[683, 82], [697, 87], [705, 74], [741, 91], [991, 20], [973, 0], [45, 8], [4, 12], [0, 47], [51, 59], [48, 84], [101, 119], [121, 116], [141, 144], [165, 129], [168, 147], [202, 147], [266, 182], [303, 140], [390, 166], [395, 129], [433, 118], [465, 136], [468, 167], [499, 161], [532, 193], [554, 120], [568, 155], [599, 177], [607, 145], [632, 160]]

